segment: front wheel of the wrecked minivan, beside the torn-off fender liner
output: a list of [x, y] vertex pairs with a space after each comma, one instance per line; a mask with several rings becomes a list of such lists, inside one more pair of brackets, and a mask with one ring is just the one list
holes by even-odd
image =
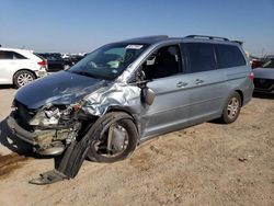
[[123, 112], [101, 117], [96, 137], [92, 140], [88, 158], [98, 162], [115, 162], [128, 157], [136, 148], [138, 131], [132, 117]]

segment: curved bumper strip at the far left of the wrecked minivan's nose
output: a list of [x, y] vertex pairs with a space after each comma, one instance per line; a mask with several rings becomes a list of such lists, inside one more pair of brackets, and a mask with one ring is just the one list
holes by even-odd
[[35, 133], [31, 133], [26, 129], [24, 129], [23, 127], [21, 127], [15, 118], [14, 118], [14, 112], [12, 112], [10, 114], [10, 116], [8, 117], [8, 126], [10, 127], [10, 129], [12, 130], [12, 133], [19, 137], [20, 139], [22, 139], [23, 141], [26, 141], [33, 146], [36, 146], [37, 142], [35, 141], [35, 139], [37, 138], [37, 134]]

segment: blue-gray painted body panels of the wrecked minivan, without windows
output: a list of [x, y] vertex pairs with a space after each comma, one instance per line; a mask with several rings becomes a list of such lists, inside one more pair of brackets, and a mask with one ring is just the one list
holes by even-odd
[[[167, 38], [153, 43], [114, 81], [76, 77], [77, 75], [60, 71], [55, 75], [56, 78], [49, 76], [47, 79], [37, 80], [21, 89], [15, 100], [35, 110], [47, 103], [59, 105], [81, 101], [81, 110], [85, 114], [98, 117], [111, 110], [124, 111], [134, 117], [140, 140], [220, 117], [229, 94], [235, 91], [242, 93], [243, 104], [251, 100], [253, 84], [248, 78], [251, 68], [244, 55], [246, 66], [197, 73], [182, 72], [149, 81], [147, 87], [155, 91], [156, 99], [152, 105], [145, 104], [141, 101], [141, 88], [133, 83], [136, 71], [158, 48], [185, 42], [204, 41]], [[216, 41], [206, 42], [216, 43]], [[237, 43], [220, 42], [218, 44], [236, 45]], [[243, 53], [242, 49], [241, 52]], [[195, 84], [196, 79], [203, 79], [204, 83]], [[180, 82], [185, 83], [185, 87], [179, 88]], [[43, 85], [44, 90], [52, 92], [45, 91], [47, 94], [41, 98]], [[31, 98], [30, 93], [39, 95], [39, 98], [35, 100], [35, 98]]]

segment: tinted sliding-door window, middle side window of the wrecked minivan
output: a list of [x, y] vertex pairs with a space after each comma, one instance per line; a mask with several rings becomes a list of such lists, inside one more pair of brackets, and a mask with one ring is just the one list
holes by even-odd
[[189, 72], [201, 72], [217, 69], [214, 45], [207, 43], [183, 44]]

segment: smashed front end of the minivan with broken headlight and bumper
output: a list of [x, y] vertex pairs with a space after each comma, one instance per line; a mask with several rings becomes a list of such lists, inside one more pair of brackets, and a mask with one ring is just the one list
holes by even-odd
[[19, 138], [33, 146], [34, 152], [57, 156], [78, 137], [82, 125], [80, 106], [80, 103], [47, 104], [35, 111], [14, 101], [8, 125]]

